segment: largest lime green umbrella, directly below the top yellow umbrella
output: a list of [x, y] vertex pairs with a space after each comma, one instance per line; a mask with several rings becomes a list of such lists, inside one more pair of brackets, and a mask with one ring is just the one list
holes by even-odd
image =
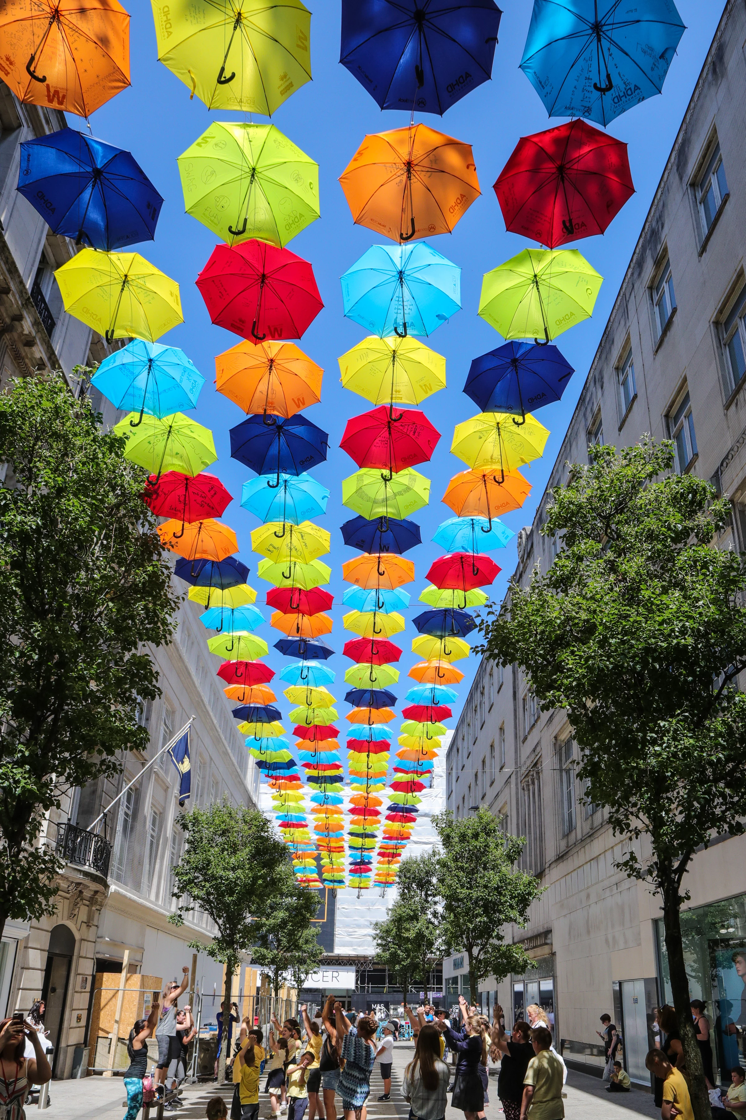
[[216, 121], [177, 164], [187, 214], [229, 245], [284, 248], [319, 217], [319, 165], [274, 124]]

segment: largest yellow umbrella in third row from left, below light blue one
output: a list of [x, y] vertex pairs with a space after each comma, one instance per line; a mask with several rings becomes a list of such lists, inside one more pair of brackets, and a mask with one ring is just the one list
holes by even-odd
[[419, 404], [445, 389], [445, 358], [418, 338], [375, 335], [339, 358], [346, 389], [374, 404]]

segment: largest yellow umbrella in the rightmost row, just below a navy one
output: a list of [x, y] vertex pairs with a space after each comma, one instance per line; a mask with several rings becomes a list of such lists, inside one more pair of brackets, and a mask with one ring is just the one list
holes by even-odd
[[470, 467], [495, 467], [503, 474], [541, 458], [549, 432], [535, 420], [517, 424], [509, 412], [480, 412], [457, 423], [451, 450]]

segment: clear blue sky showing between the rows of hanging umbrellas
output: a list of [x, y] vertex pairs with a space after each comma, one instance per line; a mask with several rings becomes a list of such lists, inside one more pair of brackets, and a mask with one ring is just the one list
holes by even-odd
[[[465, 140], [473, 146], [482, 196], [471, 206], [455, 232], [436, 236], [432, 244], [462, 269], [462, 310], [427, 340], [433, 349], [445, 355], [447, 388], [429, 398], [422, 405], [427, 417], [442, 433], [442, 439], [429, 464], [418, 469], [432, 479], [431, 504], [414, 516], [422, 525], [423, 544], [407, 553], [416, 566], [416, 581], [407, 590], [413, 592], [409, 618], [418, 613], [417, 595], [425, 586], [425, 572], [442, 550], [431, 538], [441, 521], [452, 516], [441, 503], [448, 478], [464, 468], [451, 455], [454, 423], [478, 412], [462, 388], [473, 357], [500, 345], [502, 339], [476, 315], [482, 274], [513, 256], [526, 242], [506, 233], [492, 184], [514, 148], [519, 137], [549, 127], [546, 110], [535, 90], [518, 68], [531, 13], [529, 0], [503, 0], [504, 13], [500, 27], [500, 43], [495, 50], [492, 82], [485, 83], [460, 101], [444, 118], [423, 114], [422, 119], [435, 129]], [[337, 181], [363, 136], [398, 128], [408, 123], [409, 114], [381, 112], [352, 75], [339, 64], [340, 3], [339, 0], [306, 0], [313, 12], [311, 21], [311, 49], [313, 82], [303, 86], [272, 118], [290, 139], [298, 143], [320, 166], [321, 218], [295, 237], [289, 248], [310, 260], [324, 301], [324, 309], [303, 336], [301, 347], [323, 366], [323, 395], [320, 404], [306, 414], [329, 432], [329, 458], [313, 470], [331, 491], [327, 516], [318, 519], [331, 532], [331, 554], [322, 559], [332, 568], [329, 589], [334, 595], [332, 616], [334, 629], [327, 638], [337, 650], [329, 662], [337, 671], [332, 691], [339, 699], [339, 713], [343, 719], [349, 709], [343, 703], [344, 669], [350, 662], [342, 656], [346, 638], [353, 635], [342, 629], [341, 566], [356, 553], [342, 543], [339, 526], [355, 516], [341, 504], [341, 479], [356, 470], [356, 465], [340, 449], [339, 441], [346, 421], [370, 408], [362, 398], [342, 389], [339, 382], [337, 358], [363, 336], [365, 332], [342, 316], [339, 277], [379, 239], [367, 228], [352, 224], [352, 218]], [[125, 0], [126, 4], [126, 0]], [[170, 332], [161, 342], [180, 346], [207, 377], [196, 418], [211, 428], [218, 450], [218, 463], [208, 469], [219, 475], [236, 501], [228, 506], [224, 521], [238, 534], [240, 558], [252, 570], [249, 584], [259, 592], [257, 605], [264, 604], [268, 585], [256, 577], [258, 557], [251, 551], [249, 534], [257, 521], [239, 506], [242, 483], [251, 473], [230, 459], [228, 430], [243, 419], [243, 413], [225, 396], [216, 393], [214, 357], [238, 342], [235, 335], [210, 324], [202, 299], [195, 287], [195, 279], [213, 251], [215, 236], [196, 220], [185, 214], [183, 198], [176, 158], [209, 125], [211, 120], [243, 120], [230, 113], [210, 114], [205, 105], [189, 100], [189, 91], [162, 66], [157, 58], [155, 35], [150, 4], [134, 0], [126, 4], [132, 15], [131, 53], [132, 86], [103, 106], [92, 118], [96, 137], [125, 148], [150, 176], [163, 195], [164, 204], [157, 228], [155, 241], [138, 246], [150, 261], [181, 286], [185, 314], [182, 326]], [[687, 25], [679, 50], [673, 59], [662, 96], [653, 97], [614, 121], [608, 131], [629, 143], [630, 164], [636, 194], [615, 218], [606, 235], [576, 242], [593, 267], [604, 277], [601, 295], [592, 320], [576, 326], [559, 339], [559, 346], [576, 373], [557, 404], [541, 409], [538, 419], [551, 436], [542, 460], [530, 469], [525, 468], [532, 484], [532, 493], [522, 510], [508, 514], [503, 520], [514, 532], [530, 524], [536, 503], [554, 465], [564, 433], [583, 388], [606, 318], [612, 308], [624, 271], [650, 206], [671, 144], [676, 137], [687, 103], [705, 60], [710, 40], [719, 21], [721, 0], [679, 0], [681, 17]], [[266, 118], [255, 118], [266, 122]], [[553, 124], [560, 123], [553, 119]], [[73, 127], [81, 127], [72, 118]], [[532, 243], [530, 243], [532, 244]], [[190, 413], [195, 414], [195, 413]], [[492, 553], [501, 566], [492, 596], [500, 599], [516, 564], [514, 540]], [[264, 607], [268, 617], [270, 610]], [[267, 625], [258, 632], [272, 647], [280, 634]], [[416, 631], [410, 623], [397, 644], [404, 646], [399, 662], [402, 679], [394, 691], [404, 706], [408, 684], [408, 668], [417, 660], [410, 653], [410, 640]], [[286, 664], [271, 650], [270, 664], [275, 670]], [[457, 716], [465, 698], [476, 659], [460, 662], [466, 676], [460, 687], [460, 701], [454, 704]], [[281, 684], [275, 680], [275, 684]], [[276, 689], [281, 707], [289, 706]], [[391, 725], [396, 728], [397, 725]]]

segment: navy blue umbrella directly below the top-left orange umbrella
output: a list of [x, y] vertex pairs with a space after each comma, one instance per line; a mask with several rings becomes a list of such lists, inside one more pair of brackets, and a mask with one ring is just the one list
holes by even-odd
[[53, 233], [107, 252], [152, 241], [163, 204], [129, 151], [76, 129], [21, 143], [18, 190]]

